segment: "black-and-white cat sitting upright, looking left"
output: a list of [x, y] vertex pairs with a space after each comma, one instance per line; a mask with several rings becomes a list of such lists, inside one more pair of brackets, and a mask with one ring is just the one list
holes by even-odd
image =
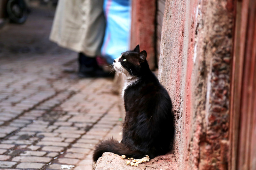
[[114, 69], [127, 76], [123, 97], [126, 111], [123, 139], [101, 141], [95, 148], [93, 160], [104, 152], [113, 152], [140, 159], [164, 155], [170, 150], [174, 134], [172, 102], [168, 92], [150, 71], [147, 52], [139, 45], [114, 60]]

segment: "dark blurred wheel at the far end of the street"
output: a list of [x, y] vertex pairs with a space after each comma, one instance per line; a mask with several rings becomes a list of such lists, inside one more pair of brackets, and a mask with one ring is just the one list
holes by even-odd
[[8, 0], [6, 9], [9, 18], [13, 22], [22, 24], [27, 20], [28, 10], [23, 0]]

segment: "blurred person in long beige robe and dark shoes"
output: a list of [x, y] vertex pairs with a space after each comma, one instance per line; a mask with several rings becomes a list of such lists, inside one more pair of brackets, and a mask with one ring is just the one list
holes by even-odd
[[50, 40], [78, 52], [80, 77], [109, 76], [97, 63], [104, 32], [104, 0], [59, 0]]

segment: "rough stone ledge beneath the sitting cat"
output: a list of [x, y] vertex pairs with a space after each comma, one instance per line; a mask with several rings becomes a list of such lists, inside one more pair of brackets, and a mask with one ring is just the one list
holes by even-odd
[[147, 163], [139, 164], [139, 166], [126, 165], [128, 159], [121, 159], [121, 156], [105, 152], [102, 157], [97, 160], [96, 165], [94, 165], [95, 170], [145, 170], [145, 169], [157, 169], [157, 170], [177, 170], [175, 166], [175, 161], [173, 161], [173, 154], [166, 154], [158, 156], [154, 159], [150, 159]]

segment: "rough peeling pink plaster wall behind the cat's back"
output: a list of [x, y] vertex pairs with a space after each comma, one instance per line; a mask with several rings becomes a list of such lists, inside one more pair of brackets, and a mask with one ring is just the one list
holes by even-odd
[[226, 169], [232, 0], [166, 0], [159, 80], [175, 115], [179, 169]]

